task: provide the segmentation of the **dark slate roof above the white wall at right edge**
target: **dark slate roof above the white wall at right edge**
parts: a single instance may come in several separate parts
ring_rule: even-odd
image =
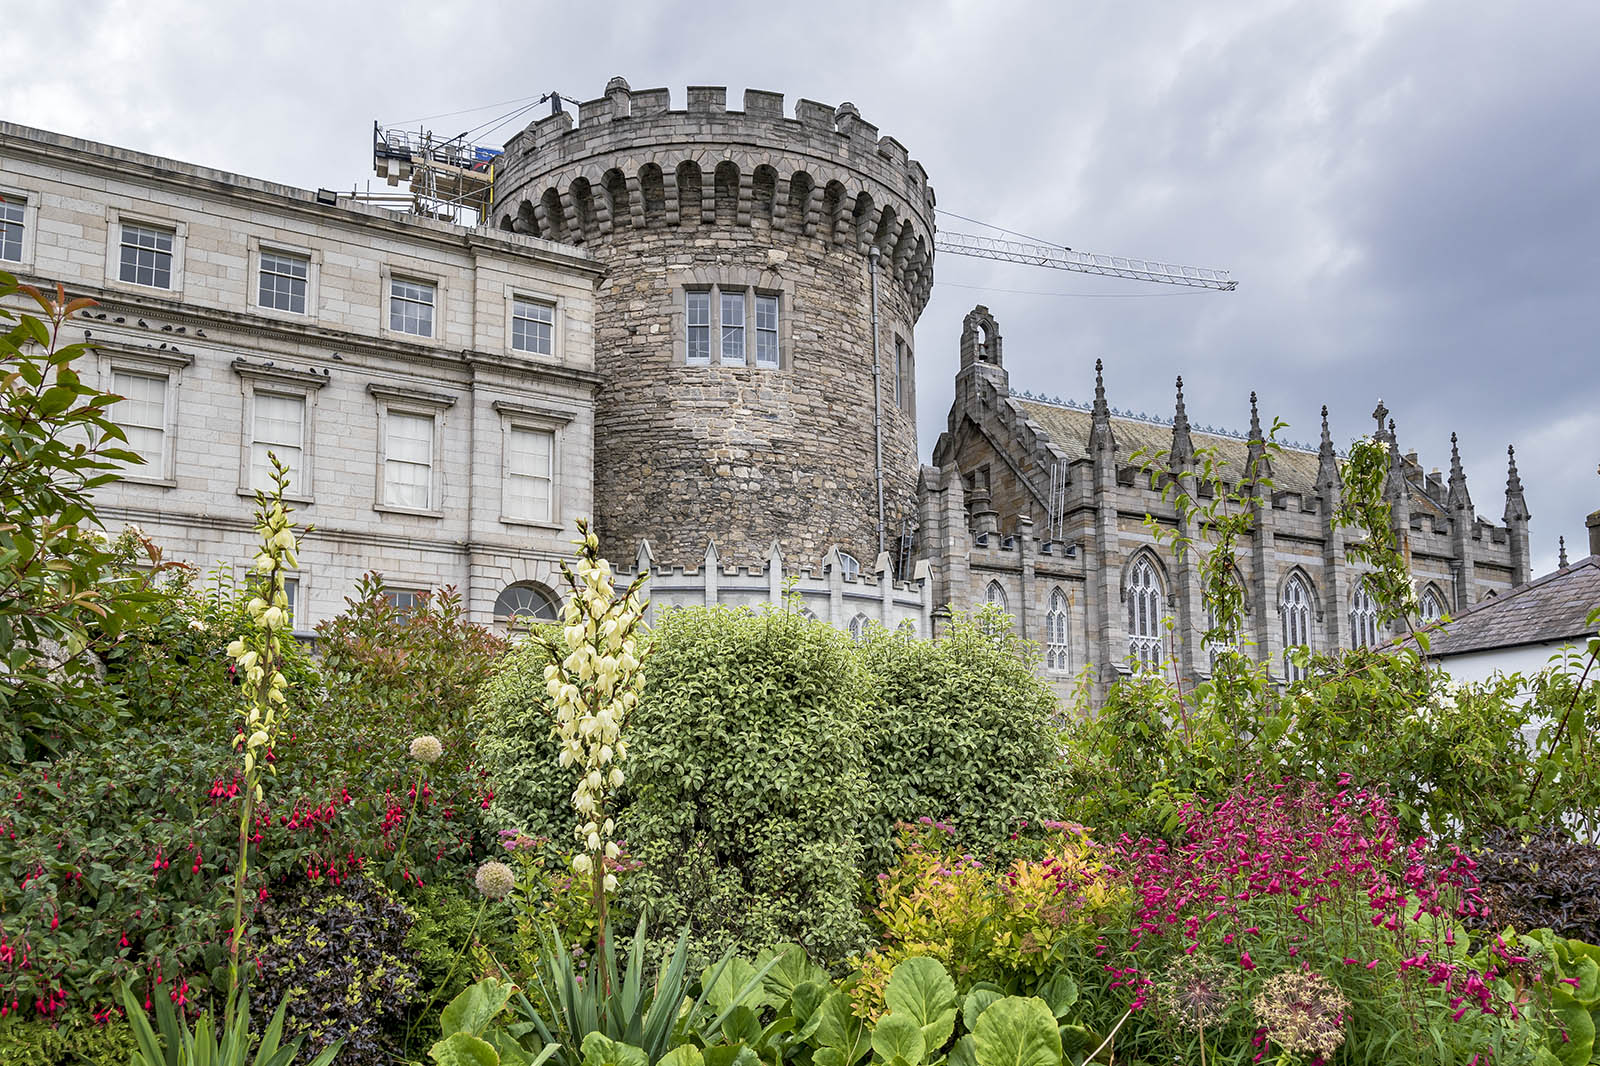
[[[1458,615],[1432,635],[1429,655],[1466,655],[1589,637],[1600,607],[1600,555],[1589,555]]]

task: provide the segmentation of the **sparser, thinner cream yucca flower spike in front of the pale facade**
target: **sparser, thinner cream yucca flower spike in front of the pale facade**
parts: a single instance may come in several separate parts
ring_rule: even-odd
[[[254,775],[258,752],[272,743],[277,725],[278,707],[283,706],[283,691],[290,687],[288,679],[278,669],[282,639],[290,627],[290,600],[283,589],[283,571],[298,570],[299,560],[294,557],[294,530],[290,527],[288,512],[282,499],[272,499],[256,523],[261,535],[261,551],[256,552],[256,571],[267,575],[269,587],[266,595],[251,597],[245,605],[250,615],[253,632],[235,639],[227,645],[229,656],[238,664],[248,701],[243,711],[245,731],[234,741],[234,746],[245,749],[245,776]],[[269,672],[270,671],[270,672]],[[261,784],[256,784],[256,799],[261,799]]]

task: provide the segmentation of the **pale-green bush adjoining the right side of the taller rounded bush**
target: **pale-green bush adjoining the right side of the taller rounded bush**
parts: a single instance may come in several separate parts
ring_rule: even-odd
[[[869,872],[891,856],[899,821],[952,824],[970,850],[1006,840],[1056,797],[1056,695],[1034,645],[995,624],[998,608],[957,611],[939,640],[872,627],[866,733],[875,810],[864,828]]]

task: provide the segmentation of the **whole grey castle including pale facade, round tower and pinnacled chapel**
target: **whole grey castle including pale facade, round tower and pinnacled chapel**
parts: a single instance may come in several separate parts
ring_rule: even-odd
[[[914,330],[933,285],[928,174],[851,104],[613,78],[498,162],[488,224],[402,216],[0,123],[0,269],[62,282],[149,463],[101,498],[179,557],[243,563],[266,451],[306,544],[296,624],[378,568],[469,615],[549,618],[568,530],[650,568],[654,610],[798,597],[861,634],[934,635],[1002,603],[1062,691],[1091,667],[1208,672],[1194,570],[1139,448],[1264,447],[1013,394],[998,323],[966,317],[949,427],[918,466]],[[77,339],[77,338],[74,338]],[[1378,432],[1395,442],[1378,413]],[[1424,613],[1528,579],[1515,463],[1504,525],[1392,448]],[[1373,643],[1331,523],[1339,458],[1288,448],[1240,557],[1256,655]]]

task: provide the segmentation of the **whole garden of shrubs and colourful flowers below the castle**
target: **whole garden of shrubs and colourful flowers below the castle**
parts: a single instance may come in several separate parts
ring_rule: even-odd
[[[104,528],[136,456],[82,304],[0,291],[38,304],[0,341],[6,1066],[1600,1063],[1600,637],[1278,685],[1230,578],[1262,482],[1152,456],[1211,674],[1093,714],[995,608],[646,624],[582,525],[555,624],[371,575],[312,651],[282,491],[238,581]],[[1400,623],[1384,466],[1339,519]]]

